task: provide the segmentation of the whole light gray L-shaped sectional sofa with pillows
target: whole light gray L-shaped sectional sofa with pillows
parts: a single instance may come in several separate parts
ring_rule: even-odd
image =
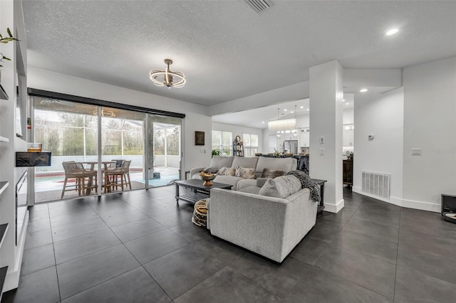
[[[227,240],[259,255],[282,262],[316,223],[318,203],[311,200],[309,188],[301,188],[296,176],[264,179],[264,169],[291,171],[294,158],[214,156],[209,167],[199,171],[242,166],[254,169],[254,179],[217,175],[215,182],[231,184],[232,190],[214,188],[207,200],[207,228]]]

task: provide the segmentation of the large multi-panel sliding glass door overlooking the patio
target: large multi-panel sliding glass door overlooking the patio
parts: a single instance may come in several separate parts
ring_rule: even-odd
[[[36,96],[31,102],[33,141],[52,153],[51,166],[35,167],[35,203],[180,179],[182,118]],[[83,176],[68,174],[75,167]]]

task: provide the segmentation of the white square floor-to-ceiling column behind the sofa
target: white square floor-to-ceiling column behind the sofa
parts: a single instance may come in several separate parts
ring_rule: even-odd
[[[343,208],[342,115],[343,68],[338,61],[310,68],[310,159],[313,179],[327,180],[325,211]]]

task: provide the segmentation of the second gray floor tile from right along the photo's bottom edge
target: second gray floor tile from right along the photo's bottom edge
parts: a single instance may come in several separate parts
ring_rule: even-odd
[[[393,299],[342,279],[326,270],[311,267],[282,302],[393,303]]]

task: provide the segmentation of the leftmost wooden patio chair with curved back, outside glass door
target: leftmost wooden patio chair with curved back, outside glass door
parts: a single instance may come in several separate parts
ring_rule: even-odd
[[[63,182],[61,195],[62,199],[66,191],[78,191],[78,196],[81,196],[81,192],[83,195],[89,195],[92,189],[95,189],[95,193],[98,192],[97,171],[84,169],[82,163],[75,161],[64,161],[62,162],[62,166],[65,171],[65,181]],[[74,188],[71,188],[72,185],[67,185],[68,179],[75,179]],[[93,182],[94,180],[95,182]]]

